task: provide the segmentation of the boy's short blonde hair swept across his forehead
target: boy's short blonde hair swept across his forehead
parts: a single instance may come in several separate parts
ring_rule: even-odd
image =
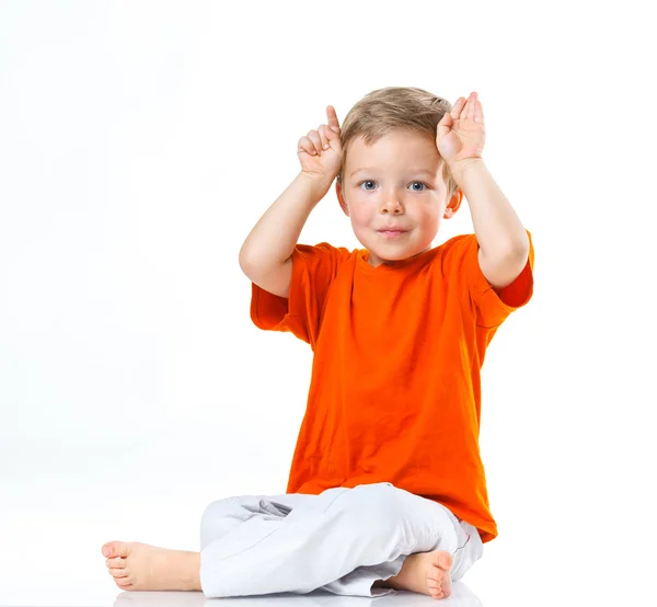
[[[343,149],[337,182],[344,186],[347,148],[362,137],[368,146],[376,144],[392,130],[408,130],[436,140],[438,123],[451,112],[449,101],[415,87],[387,87],[366,94],[349,110],[341,125]],[[442,180],[449,197],[459,188],[447,162],[441,160]]]

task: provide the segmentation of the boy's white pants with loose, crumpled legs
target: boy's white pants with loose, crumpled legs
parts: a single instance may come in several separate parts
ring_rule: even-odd
[[[475,527],[391,483],[320,495],[243,495],[212,502],[200,523],[207,598],[274,593],[380,596],[414,552],[447,550],[457,581],[482,557]]]

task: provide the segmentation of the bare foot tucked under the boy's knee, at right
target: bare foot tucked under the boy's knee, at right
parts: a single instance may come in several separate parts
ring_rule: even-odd
[[[447,550],[416,552],[406,557],[402,570],[395,576],[376,582],[374,586],[447,598],[451,594],[449,572],[452,564],[453,559]]]

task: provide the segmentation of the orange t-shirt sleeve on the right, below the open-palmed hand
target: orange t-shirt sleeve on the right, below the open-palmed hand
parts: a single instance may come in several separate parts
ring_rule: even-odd
[[[486,280],[480,267],[476,234],[457,237],[458,252],[454,253],[459,260],[459,275],[465,295],[475,306],[479,327],[498,327],[512,311],[525,306],[533,295],[534,250],[531,232],[526,231],[529,239],[527,263],[511,284],[497,290]]]

